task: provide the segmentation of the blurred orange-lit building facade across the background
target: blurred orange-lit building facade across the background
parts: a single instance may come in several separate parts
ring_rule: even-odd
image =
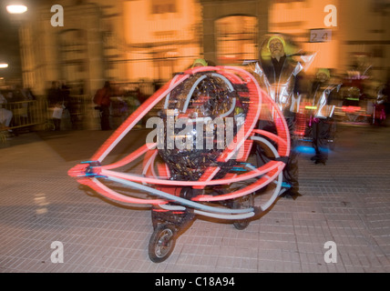
[[[63,26],[52,23],[53,5]],[[364,59],[375,77],[388,76],[387,0],[48,0],[31,10],[20,43],[24,85],[36,94],[53,80],[89,95],[105,80],[164,82],[198,57],[240,65],[259,57],[270,32],[316,52],[312,69],[344,72]],[[317,32],[326,35],[315,41]]]

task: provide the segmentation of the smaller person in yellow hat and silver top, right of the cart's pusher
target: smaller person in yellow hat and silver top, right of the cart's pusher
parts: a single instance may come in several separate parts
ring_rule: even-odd
[[[332,99],[334,89],[340,88],[340,85],[330,84],[331,74],[327,68],[319,68],[315,75],[310,97],[312,98],[313,115],[311,116],[312,126],[312,145],[315,150],[315,156],[311,160],[315,164],[326,164],[328,159],[328,139],[330,137],[331,125],[334,114],[334,105]]]

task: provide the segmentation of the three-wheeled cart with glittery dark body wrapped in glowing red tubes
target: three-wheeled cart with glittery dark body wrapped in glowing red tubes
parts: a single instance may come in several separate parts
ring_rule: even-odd
[[[158,104],[159,115],[149,120],[155,125],[154,137],[105,165],[119,141]],[[277,134],[257,128],[262,111],[272,113]],[[257,145],[274,156],[262,166],[251,162]],[[289,153],[282,113],[253,76],[239,67],[202,66],[162,86],[89,161],[74,166],[68,175],[115,202],[150,205],[154,231],[149,258],[162,262],[180,229],[196,216],[229,220],[243,229],[272,206],[281,193],[283,161]],[[137,159],[142,159],[142,169],[130,173],[126,168]],[[265,188],[271,191],[262,191]],[[257,205],[254,196],[259,193],[264,196]]]

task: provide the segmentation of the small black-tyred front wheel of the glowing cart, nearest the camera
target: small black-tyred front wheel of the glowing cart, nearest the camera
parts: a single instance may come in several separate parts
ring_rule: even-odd
[[[170,224],[156,227],[149,241],[149,258],[154,263],[165,261],[172,253],[176,242],[176,229]]]

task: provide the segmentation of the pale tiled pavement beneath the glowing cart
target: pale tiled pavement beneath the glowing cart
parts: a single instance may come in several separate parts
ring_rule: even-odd
[[[0,272],[389,272],[390,127],[340,128],[326,166],[301,154],[303,196],[278,199],[244,230],[198,218],[159,264],[149,208],[88,196],[67,176],[110,132],[15,136],[0,148]],[[56,241],[63,263],[51,260]],[[336,262],[325,262],[328,241]]]

